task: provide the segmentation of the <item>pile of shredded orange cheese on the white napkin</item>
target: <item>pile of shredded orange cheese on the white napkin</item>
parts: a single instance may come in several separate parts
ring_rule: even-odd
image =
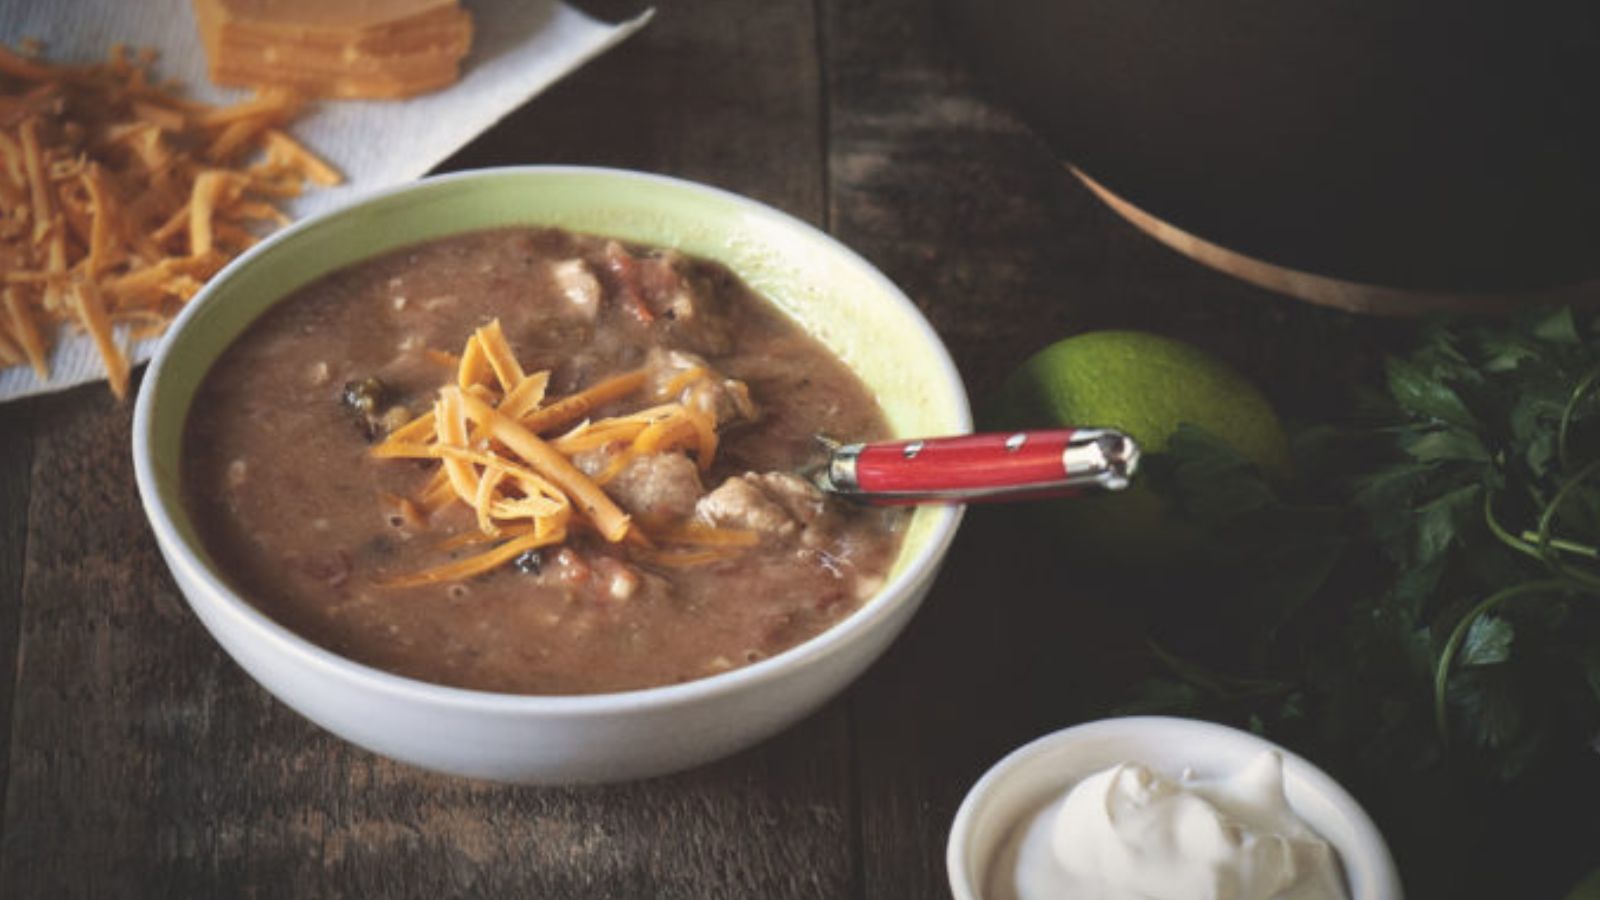
[[[294,94],[194,102],[150,83],[150,62],[120,45],[86,66],[0,46],[0,367],[48,378],[51,340],[70,325],[126,396],[115,328],[160,335],[261,226],[288,221],[272,200],[341,181],[282,131]]]

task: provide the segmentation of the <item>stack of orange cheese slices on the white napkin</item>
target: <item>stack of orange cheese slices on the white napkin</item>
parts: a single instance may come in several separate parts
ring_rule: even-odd
[[[218,85],[390,99],[456,82],[472,16],[456,0],[194,0]]]

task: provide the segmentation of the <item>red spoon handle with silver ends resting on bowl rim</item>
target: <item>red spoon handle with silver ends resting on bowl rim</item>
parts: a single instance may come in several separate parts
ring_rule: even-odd
[[[818,487],[878,506],[1122,490],[1139,468],[1139,445],[1106,428],[824,444],[829,458],[814,474]]]

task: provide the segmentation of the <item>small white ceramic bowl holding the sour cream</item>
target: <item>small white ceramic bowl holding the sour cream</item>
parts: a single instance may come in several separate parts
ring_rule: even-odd
[[[1350,900],[1402,900],[1389,846],[1338,781],[1275,743],[1195,719],[1130,716],[1045,735],[1013,751],[973,785],[950,826],[946,866],[955,900],[986,900],[989,866],[1018,826],[1078,780],[1118,762],[1144,762],[1176,777],[1238,772],[1262,751],[1283,756],[1290,807],[1339,852]]]

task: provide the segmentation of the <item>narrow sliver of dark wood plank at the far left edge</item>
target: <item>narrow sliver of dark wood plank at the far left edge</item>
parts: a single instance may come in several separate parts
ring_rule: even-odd
[[[16,695],[18,618],[22,610],[22,554],[27,548],[37,407],[37,400],[0,407],[0,809],[5,809],[11,770],[11,701]],[[0,820],[0,834],[3,828]]]

